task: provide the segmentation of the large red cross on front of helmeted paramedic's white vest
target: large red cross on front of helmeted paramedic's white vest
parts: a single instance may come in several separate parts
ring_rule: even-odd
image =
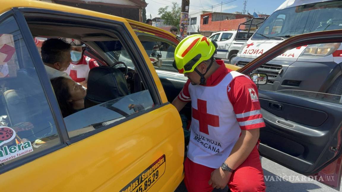
[[[197,108],[192,108],[192,116],[199,122],[199,131],[209,135],[208,125],[219,127],[219,116],[207,113],[207,101],[205,100],[197,99]]]

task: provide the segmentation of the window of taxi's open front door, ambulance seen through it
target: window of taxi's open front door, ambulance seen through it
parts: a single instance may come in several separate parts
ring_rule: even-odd
[[[260,90],[342,104],[342,76],[334,72],[339,68],[341,47],[341,43],[319,43],[289,50],[259,67],[256,72],[267,74],[268,79],[254,82]],[[281,65],[279,60],[287,61]]]

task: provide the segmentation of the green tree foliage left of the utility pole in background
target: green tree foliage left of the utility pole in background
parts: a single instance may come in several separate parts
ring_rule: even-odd
[[[169,6],[158,9],[158,15],[161,15],[160,19],[164,19],[165,25],[171,25],[177,27],[179,30],[179,24],[181,20],[181,7],[177,3],[172,3],[171,11],[168,11]]]

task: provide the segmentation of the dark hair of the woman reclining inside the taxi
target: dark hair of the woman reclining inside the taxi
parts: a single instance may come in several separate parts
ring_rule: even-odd
[[[56,77],[51,79],[52,88],[55,92],[58,104],[60,105],[63,118],[75,112],[73,104],[68,101],[71,95],[69,93],[69,88],[66,80],[67,78],[65,77]]]

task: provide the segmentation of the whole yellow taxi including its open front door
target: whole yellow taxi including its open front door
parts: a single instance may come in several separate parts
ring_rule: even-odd
[[[187,104],[179,114],[170,104],[187,81],[172,67],[179,39],[146,24],[63,5],[32,0],[1,5],[1,188],[174,191],[183,179],[192,110]],[[100,67],[89,72],[83,110],[62,115],[35,37],[71,38],[89,48],[85,54]],[[276,91],[265,86],[272,83],[267,62],[273,58],[341,39],[342,30],[299,35],[243,68],[226,65],[263,77],[256,82],[266,124],[260,130],[260,154],[335,189],[342,175],[342,91],[308,91],[302,84],[309,81]],[[330,56],[342,58],[341,51]],[[325,58],[312,60],[319,59]],[[296,76],[312,71],[301,67]],[[269,70],[265,74],[260,68]],[[310,77],[317,79],[320,67],[314,71]]]

